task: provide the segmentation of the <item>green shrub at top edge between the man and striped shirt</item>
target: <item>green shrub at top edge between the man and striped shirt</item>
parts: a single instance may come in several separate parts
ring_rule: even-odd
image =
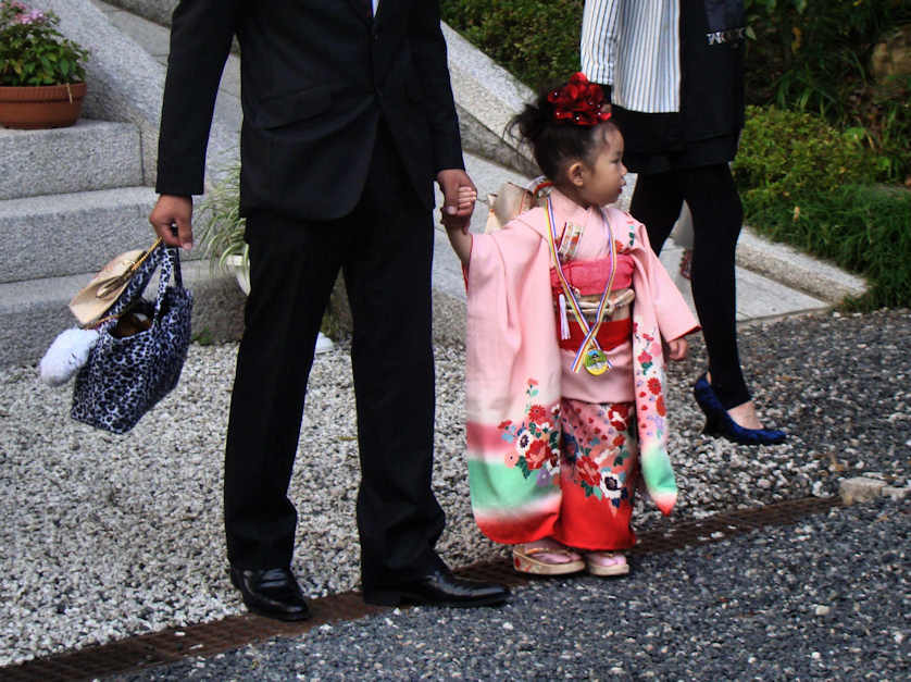
[[[579,70],[584,0],[441,0],[453,28],[534,90]]]

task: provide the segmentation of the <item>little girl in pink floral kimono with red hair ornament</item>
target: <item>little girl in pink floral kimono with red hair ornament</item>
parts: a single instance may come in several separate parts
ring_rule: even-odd
[[[578,73],[515,117],[552,183],[545,206],[449,231],[467,284],[472,507],[527,573],[627,573],[640,471],[661,511],[676,501],[662,340],[681,360],[699,327],[645,227],[604,208],[626,169],[602,97]]]

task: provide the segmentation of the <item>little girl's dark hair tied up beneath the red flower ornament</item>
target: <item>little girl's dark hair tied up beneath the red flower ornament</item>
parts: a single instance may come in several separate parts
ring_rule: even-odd
[[[541,173],[559,185],[563,181],[563,169],[577,160],[594,162],[607,129],[617,128],[612,121],[595,125],[558,121],[554,104],[548,100],[548,96],[557,89],[559,86],[542,90],[533,103],[525,104],[522,112],[512,117],[507,131],[514,139],[531,146]]]

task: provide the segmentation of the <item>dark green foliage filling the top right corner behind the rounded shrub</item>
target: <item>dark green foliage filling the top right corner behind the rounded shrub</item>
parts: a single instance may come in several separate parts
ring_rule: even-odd
[[[747,100],[863,131],[877,179],[911,179],[911,78],[876,82],[876,44],[911,23],[908,0],[746,0]]]

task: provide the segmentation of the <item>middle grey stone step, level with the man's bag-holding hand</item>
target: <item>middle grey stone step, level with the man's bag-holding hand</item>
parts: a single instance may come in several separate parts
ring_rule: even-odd
[[[0,283],[93,272],[152,243],[151,187],[0,201]]]

